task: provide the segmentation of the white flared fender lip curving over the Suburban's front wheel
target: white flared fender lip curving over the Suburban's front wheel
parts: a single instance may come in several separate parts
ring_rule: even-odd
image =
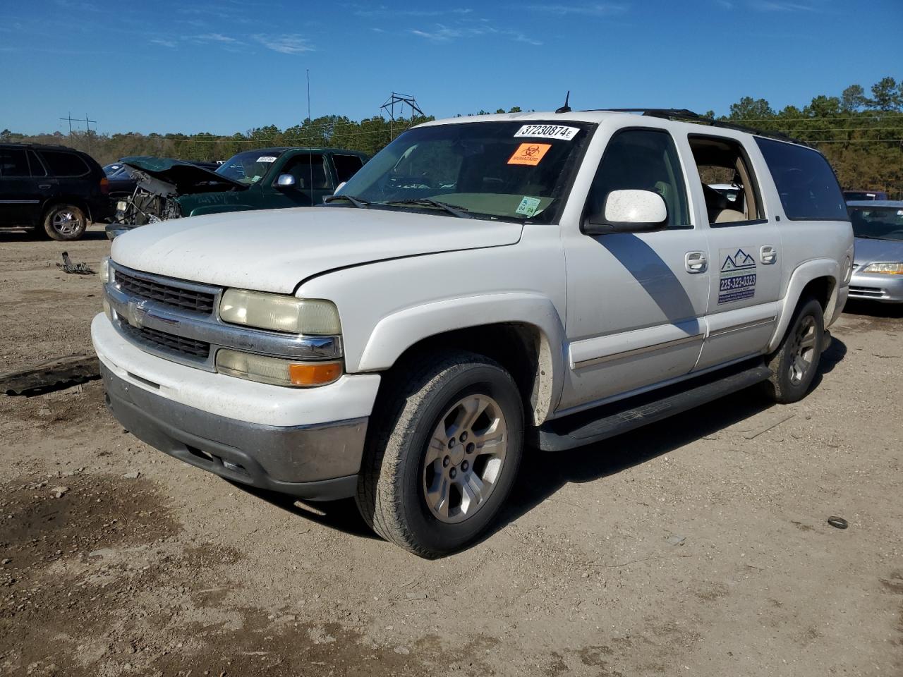
[[[454,329],[518,322],[539,330],[539,376],[535,387],[537,422],[554,411],[564,383],[564,327],[554,303],[530,293],[497,293],[434,301],[379,320],[354,371],[381,371],[418,341]]]

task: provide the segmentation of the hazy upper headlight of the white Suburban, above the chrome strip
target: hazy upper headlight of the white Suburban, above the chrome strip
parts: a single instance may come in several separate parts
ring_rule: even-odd
[[[296,299],[285,294],[227,289],[219,301],[224,322],[293,334],[337,336],[341,333],[339,311],[330,301]]]

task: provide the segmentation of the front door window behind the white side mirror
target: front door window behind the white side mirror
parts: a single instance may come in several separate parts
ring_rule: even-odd
[[[654,190],[665,199],[668,227],[688,227],[684,172],[671,134],[626,129],[611,137],[590,189],[590,209],[601,213],[612,190]]]

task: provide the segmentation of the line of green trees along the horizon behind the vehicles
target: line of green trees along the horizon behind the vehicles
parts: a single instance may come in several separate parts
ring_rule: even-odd
[[[519,112],[519,107],[497,113]],[[484,114],[480,110],[475,115]],[[706,116],[714,117],[709,111]],[[231,135],[209,134],[98,134],[94,130],[70,135],[0,132],[2,141],[65,144],[93,155],[98,162],[114,162],[129,155],[162,155],[182,160],[225,160],[243,150],[296,145],[347,148],[373,155],[407,127],[435,119],[414,116],[390,120],[383,116],[359,121],[347,116],[306,118],[280,129],[265,125]],[[880,79],[869,93],[861,85],[845,88],[839,96],[820,95],[803,107],[775,110],[764,98],[742,97],[731,105],[724,122],[787,134],[818,148],[832,163],[843,188],[885,190],[903,199],[903,82]]]

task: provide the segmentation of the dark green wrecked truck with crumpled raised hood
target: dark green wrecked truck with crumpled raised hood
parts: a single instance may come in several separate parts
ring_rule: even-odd
[[[171,218],[318,205],[367,160],[335,148],[261,148],[237,153],[211,172],[182,160],[126,157],[122,163],[137,184],[116,202],[107,237]]]

